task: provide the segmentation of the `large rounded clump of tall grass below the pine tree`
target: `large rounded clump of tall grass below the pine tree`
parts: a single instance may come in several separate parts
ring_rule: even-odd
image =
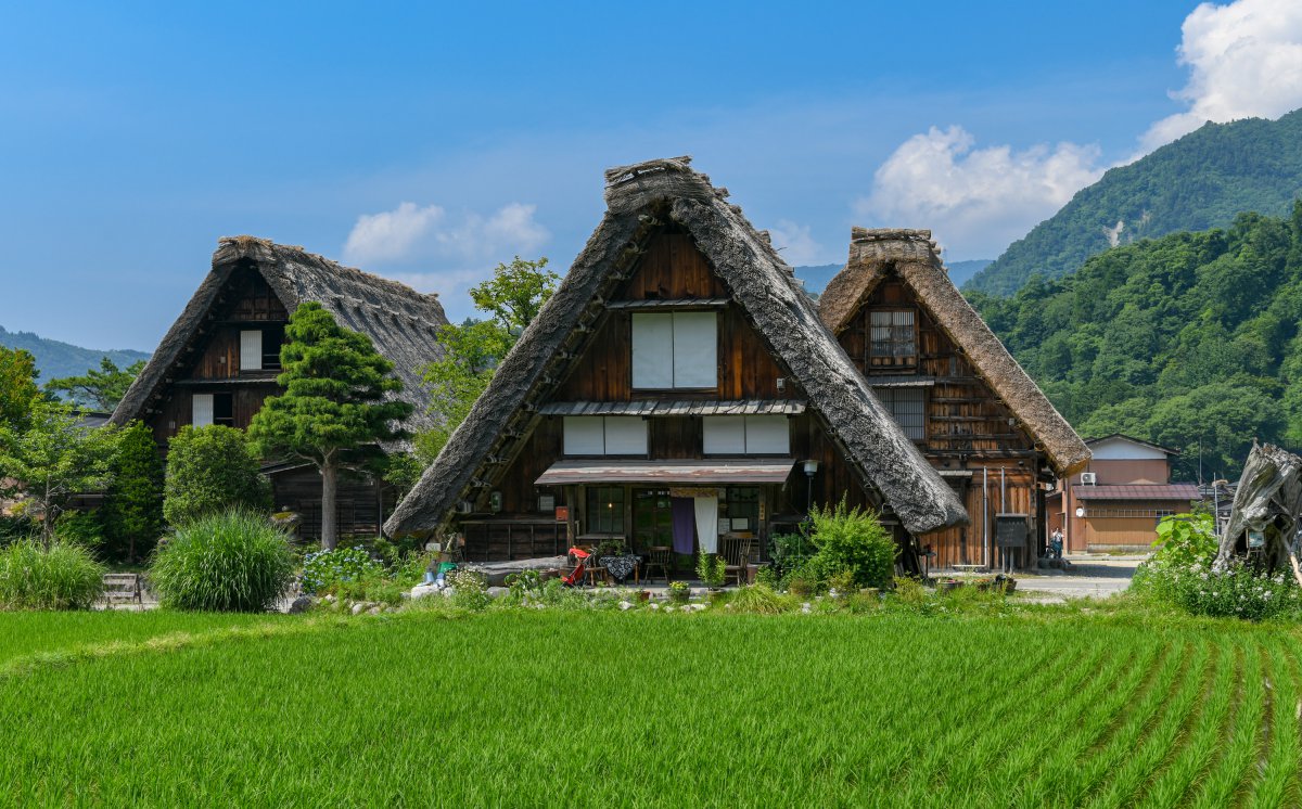
[[[163,606],[249,613],[275,603],[293,571],[288,536],[262,515],[234,510],[177,529],[155,551],[150,580]]]

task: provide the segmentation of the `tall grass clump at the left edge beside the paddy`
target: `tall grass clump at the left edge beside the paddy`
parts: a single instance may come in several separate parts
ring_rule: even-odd
[[[0,606],[5,609],[89,609],[100,593],[104,566],[85,548],[20,540],[0,550]]]

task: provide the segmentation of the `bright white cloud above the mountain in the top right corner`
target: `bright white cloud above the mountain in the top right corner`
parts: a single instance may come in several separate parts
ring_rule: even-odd
[[[1181,26],[1180,64],[1189,83],[1172,94],[1189,109],[1154,124],[1144,152],[1207,121],[1279,116],[1302,107],[1302,3],[1204,3]]]

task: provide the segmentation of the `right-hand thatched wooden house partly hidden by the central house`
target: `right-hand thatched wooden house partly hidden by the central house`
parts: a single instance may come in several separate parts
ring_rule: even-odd
[[[1047,537],[1046,496],[1090,450],[954,287],[931,233],[855,228],[819,308],[971,516],[928,537],[934,563],[997,567],[1006,554],[1032,566]]]

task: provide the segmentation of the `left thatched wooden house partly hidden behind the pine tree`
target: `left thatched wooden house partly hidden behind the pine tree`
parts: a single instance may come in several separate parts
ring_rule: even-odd
[[[436,334],[447,316],[435,295],[342,267],[298,247],[253,237],[224,238],[212,271],[168,330],[112,415],[146,423],[165,453],[182,427],[245,429],[263,401],[280,393],[280,347],[299,303],[320,303],[345,328],[371,338],[395,363],[411,428],[428,420],[421,367],[441,356]],[[320,532],[320,475],[312,466],[268,459],[275,507],[301,515],[299,533]],[[379,480],[345,473],[339,490],[341,535],[379,533],[395,506]]]

